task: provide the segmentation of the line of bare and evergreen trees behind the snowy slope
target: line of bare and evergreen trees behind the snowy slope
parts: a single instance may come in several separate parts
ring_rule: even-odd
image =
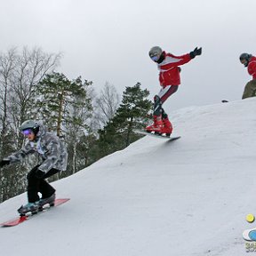
[[[148,124],[152,108],[149,92],[140,83],[126,87],[122,100],[109,83],[97,95],[92,81],[81,76],[68,79],[56,72],[60,59],[60,53],[40,48],[0,53],[0,159],[24,145],[20,124],[43,120],[68,148],[68,170],[52,180],[74,174],[138,140],[140,135],[132,131]],[[26,190],[26,173],[38,161],[29,156],[0,170],[0,202]]]

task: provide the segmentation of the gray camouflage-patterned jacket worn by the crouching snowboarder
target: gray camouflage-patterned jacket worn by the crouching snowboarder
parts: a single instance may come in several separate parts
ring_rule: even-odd
[[[28,141],[18,152],[5,157],[4,160],[10,160],[10,164],[12,164],[20,162],[29,154],[35,153],[43,159],[43,163],[38,167],[40,171],[47,173],[52,168],[66,171],[68,152],[64,141],[60,141],[60,138],[52,132],[46,132],[44,125],[39,126],[36,141]]]

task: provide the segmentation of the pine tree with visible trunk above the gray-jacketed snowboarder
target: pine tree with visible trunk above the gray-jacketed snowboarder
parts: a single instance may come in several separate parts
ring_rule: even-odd
[[[72,114],[75,108],[84,105],[86,85],[88,82],[83,83],[81,77],[70,81],[63,74],[55,72],[46,75],[39,84],[36,93],[36,112],[47,120],[51,130],[56,131],[58,136],[62,135],[64,124],[79,122]]]

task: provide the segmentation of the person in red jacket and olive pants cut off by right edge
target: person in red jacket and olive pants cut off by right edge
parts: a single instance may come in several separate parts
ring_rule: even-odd
[[[240,62],[247,68],[249,75],[252,76],[252,80],[249,81],[244,87],[244,93],[242,99],[256,96],[256,57],[249,53],[242,53],[240,55]]]

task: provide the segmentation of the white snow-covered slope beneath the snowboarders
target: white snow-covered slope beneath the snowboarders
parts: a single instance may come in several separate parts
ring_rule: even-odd
[[[256,214],[256,98],[172,112],[180,140],[144,137],[55,182],[71,197],[0,228],[1,255],[248,255]],[[26,194],[0,204],[12,219]]]

